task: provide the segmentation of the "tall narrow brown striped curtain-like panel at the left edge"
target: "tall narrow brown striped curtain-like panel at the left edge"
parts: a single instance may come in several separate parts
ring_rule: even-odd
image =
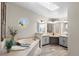
[[[4,38],[6,38],[6,3],[5,2],[1,2],[1,41],[4,40]]]

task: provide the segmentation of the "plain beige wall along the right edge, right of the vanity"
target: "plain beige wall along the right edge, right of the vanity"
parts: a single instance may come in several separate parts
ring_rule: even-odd
[[[79,3],[71,3],[68,9],[69,55],[79,56]]]

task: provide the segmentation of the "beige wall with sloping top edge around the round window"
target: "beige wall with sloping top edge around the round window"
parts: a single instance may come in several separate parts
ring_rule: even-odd
[[[18,24],[21,18],[29,20],[28,26],[24,29],[21,29]],[[9,33],[8,26],[15,26],[19,30],[17,37],[29,37],[36,32],[36,22],[41,19],[45,19],[45,17],[39,16],[18,5],[7,3],[7,34]]]

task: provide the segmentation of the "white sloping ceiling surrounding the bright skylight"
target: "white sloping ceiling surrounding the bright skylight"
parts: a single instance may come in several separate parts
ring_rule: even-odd
[[[53,5],[53,2],[50,3]],[[39,2],[14,2],[14,4],[49,18],[67,17],[68,3],[66,2],[54,2],[59,8],[53,11],[40,5]]]

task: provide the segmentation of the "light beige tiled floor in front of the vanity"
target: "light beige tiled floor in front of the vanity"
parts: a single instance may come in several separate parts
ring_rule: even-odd
[[[40,56],[67,56],[67,48],[59,45],[46,45],[42,47]]]

